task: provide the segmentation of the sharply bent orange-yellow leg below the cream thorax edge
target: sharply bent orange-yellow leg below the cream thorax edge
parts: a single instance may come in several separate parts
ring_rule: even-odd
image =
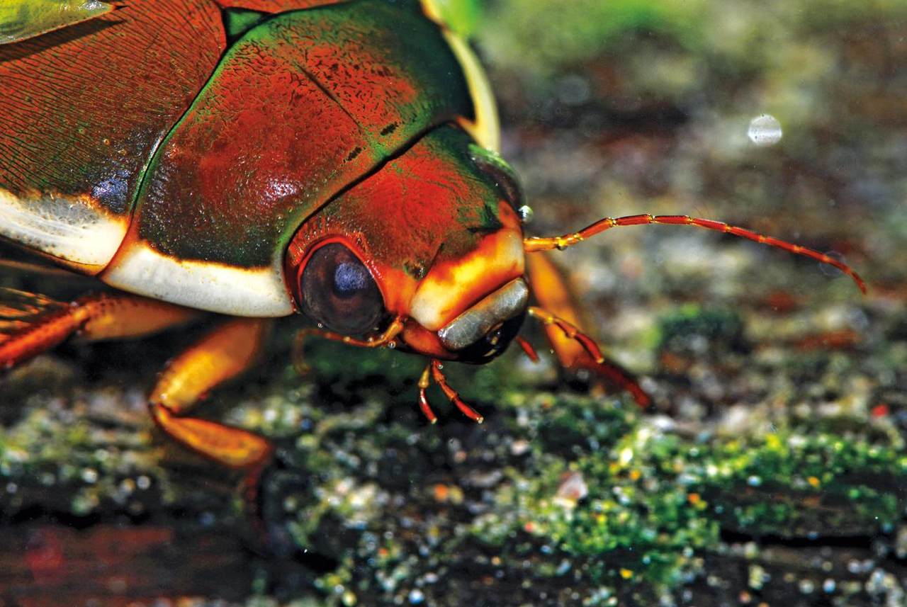
[[[268,440],[248,430],[180,416],[212,388],[252,366],[269,326],[254,318],[221,324],[170,362],[148,399],[152,419],[168,436],[223,466],[246,470],[247,496],[253,504],[258,478],[273,453]]]

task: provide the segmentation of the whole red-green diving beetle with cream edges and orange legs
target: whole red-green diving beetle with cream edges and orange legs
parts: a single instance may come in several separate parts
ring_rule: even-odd
[[[647,400],[576,328],[539,251],[615,226],[699,226],[834,265],[864,289],[828,255],[696,217],[524,237],[489,84],[434,0],[12,0],[4,11],[0,236],[117,291],[6,306],[31,312],[0,338],[0,365],[73,333],[135,337],[222,314],[148,402],[166,434],[253,483],[268,441],[187,413],[249,368],[269,318],[304,313],[318,328],[302,338],[421,354],[425,416],[434,422],[434,381],[481,421],[441,361],[491,361],[513,341],[534,356],[517,336],[527,315],[562,364]]]

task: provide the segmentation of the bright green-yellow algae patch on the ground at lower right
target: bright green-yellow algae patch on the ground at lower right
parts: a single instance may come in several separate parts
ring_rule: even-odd
[[[565,401],[536,407],[567,409],[577,399]],[[584,405],[602,409],[594,400]],[[613,423],[622,410],[612,405],[603,417]],[[531,474],[511,468],[494,512],[480,516],[472,533],[499,547],[518,533],[556,545],[552,575],[570,557],[590,584],[664,589],[701,572],[703,556],[722,546],[719,529],[782,537],[878,534],[891,531],[907,506],[899,489],[907,482],[900,440],[789,430],[691,439],[631,409],[620,417],[618,438],[595,448],[580,441],[578,458],[545,454]],[[564,489],[570,479],[583,487],[579,495]]]

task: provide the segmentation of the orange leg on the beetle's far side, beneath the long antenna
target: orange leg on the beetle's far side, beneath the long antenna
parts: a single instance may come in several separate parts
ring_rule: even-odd
[[[592,338],[575,326],[581,322],[580,306],[571,298],[566,278],[549,255],[532,255],[526,262],[532,294],[541,304],[541,307],[530,308],[529,313],[544,325],[548,341],[561,365],[566,369],[599,373],[621,390],[629,392],[640,407],[648,407],[651,398],[632,374],[608,360]]]

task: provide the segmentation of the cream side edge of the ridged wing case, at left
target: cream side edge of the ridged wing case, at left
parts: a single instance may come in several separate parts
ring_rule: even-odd
[[[0,235],[63,261],[101,269],[120,247],[127,227],[125,218],[88,197],[18,198],[0,188]]]

